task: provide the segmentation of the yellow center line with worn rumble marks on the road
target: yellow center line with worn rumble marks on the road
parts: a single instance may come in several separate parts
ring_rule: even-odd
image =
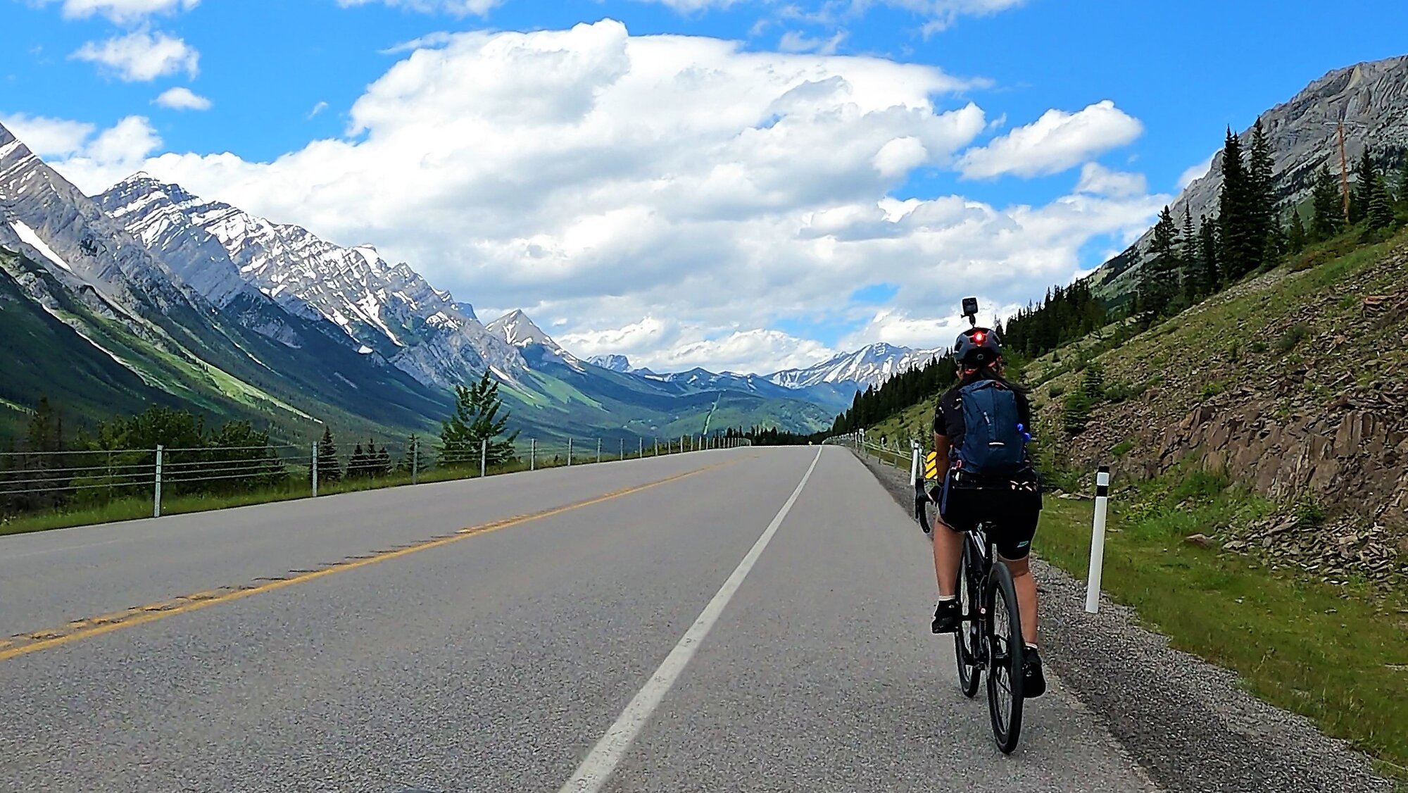
[[[103,634],[110,634],[113,631],[120,631],[122,628],[145,625],[146,623],[155,623],[156,620],[165,620],[166,617],[175,617],[176,614],[199,611],[201,608],[215,606],[217,603],[230,603],[231,600],[239,600],[242,597],[249,597],[252,594],[263,594],[266,592],[275,592],[289,586],[308,583],[311,580],[317,580],[324,576],[331,576],[334,573],[344,573],[346,570],[366,568],[377,562],[386,562],[389,559],[408,556],[411,554],[418,554],[421,551],[429,551],[431,548],[439,548],[442,545],[449,545],[452,542],[459,542],[460,539],[479,537],[480,534],[489,534],[491,531],[498,531],[513,525],[522,525],[525,523],[531,523],[535,520],[560,516],[563,513],[570,513],[573,510],[580,510],[583,507],[590,507],[593,504],[600,504],[603,501],[610,501],[612,499],[620,499],[622,496],[629,496],[632,493],[649,490],[650,487],[659,487],[660,485],[679,482],[680,479],[694,476],[697,473],[704,473],[705,470],[712,470],[715,468],[734,465],[735,462],[739,461],[721,462],[698,468],[694,470],[687,470],[684,473],[676,473],[674,476],[666,476],[665,479],[658,479],[655,482],[648,482],[645,485],[636,485],[634,487],[612,490],[611,493],[605,493],[594,499],[576,501],[562,507],[552,507],[549,510],[541,510],[536,513],[528,513],[511,518],[497,520],[493,523],[466,527],[453,534],[434,537],[424,542],[403,545],[400,548],[393,548],[390,551],[380,551],[376,554],[369,554],[366,556],[349,558],[348,561],[337,562],[325,568],[320,568],[317,570],[298,572],[289,577],[269,580],[259,585],[210,589],[204,592],[197,592],[194,594],[183,594],[180,597],[173,597],[170,600],[165,600],[161,603],[148,603],[146,606],[137,606],[125,611],[115,611],[111,614],[104,614],[101,617],[73,620],[72,623],[68,623],[66,625],[54,630],[20,634],[8,639],[0,639],[0,661],[8,661],[11,658],[28,655],[31,652],[39,652],[41,649],[62,647],[65,644],[75,642],[79,639],[100,637]]]

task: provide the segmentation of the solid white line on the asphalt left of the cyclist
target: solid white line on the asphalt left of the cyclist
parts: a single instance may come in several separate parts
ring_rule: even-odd
[[[801,482],[797,483],[797,489],[783,504],[783,508],[777,511],[773,517],[773,523],[767,524],[763,530],[762,537],[758,542],[743,556],[743,561],[738,563],[734,573],[728,576],[724,586],[718,589],[714,599],[708,601],[704,611],[700,613],[690,630],[684,631],[684,637],[680,638],[670,655],[665,658],[660,668],[650,675],[650,679],[645,683],[645,687],[635,694],[631,704],[625,706],[621,716],[617,717],[615,723],[607,730],[605,735],[597,741],[597,745],[591,748],[591,754],[587,755],[577,770],[573,772],[572,779],[566,782],[559,789],[559,793],[597,793],[611,778],[611,772],[625,756],[627,749],[631,748],[631,742],[635,741],[641,730],[645,728],[645,723],[649,721],[650,714],[659,707],[660,700],[669,693],[670,686],[679,679],[680,673],[684,672],[684,666],[689,665],[690,659],[694,658],[694,651],[698,649],[704,637],[708,635],[714,623],[718,621],[719,614],[724,613],[724,607],[728,601],[734,599],[734,593],[748,577],[748,573],[753,569],[758,558],[763,555],[763,549],[777,534],[777,527],[783,524],[787,513],[791,511],[797,497],[801,496],[803,487],[807,486],[807,480],[811,479],[811,472],[817,469],[817,462],[821,459],[822,448],[817,449],[817,456],[811,459],[811,466],[807,468],[807,473],[803,475]]]

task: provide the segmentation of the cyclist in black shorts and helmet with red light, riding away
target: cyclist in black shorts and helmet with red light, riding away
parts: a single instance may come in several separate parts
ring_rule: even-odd
[[[964,454],[987,455],[983,448],[969,451],[973,445],[1001,448],[1008,444],[994,442],[994,434],[1002,435],[1017,447],[1025,445],[1024,430],[1032,425],[1031,403],[1025,389],[1002,377],[1002,348],[997,334],[987,328],[970,328],[959,335],[953,345],[957,362],[959,382],[939,397],[934,413],[934,449],[941,461],[948,461],[942,490],[935,489],[939,501],[939,523],[934,531],[934,570],[939,580],[939,604],[934,610],[934,632],[950,634],[959,628],[960,607],[957,600],[959,563],[963,554],[963,531],[973,530],[980,521],[987,524],[988,537],[997,545],[998,559],[1012,572],[1017,589],[1017,603],[1022,614],[1022,639],[1026,642],[1025,668],[1022,669],[1026,697],[1039,697],[1046,692],[1046,678],[1042,673],[1041,656],[1036,654],[1036,582],[1032,579],[1028,554],[1032,537],[1036,534],[1036,520],[1042,508],[1041,482],[1025,448],[1001,465],[988,466],[997,473],[972,475],[973,465],[964,470]],[[970,386],[995,389],[979,396]],[[1010,416],[1015,408],[1012,427],[993,427],[986,423],[969,438],[963,418],[963,396],[972,399],[993,399],[993,416]],[[1015,404],[1014,404],[1015,403]],[[981,414],[984,418],[988,413]],[[979,438],[977,435],[981,435]],[[964,441],[972,441],[969,447]],[[1005,452],[1004,452],[1005,454]],[[1001,462],[1001,461],[998,461]]]

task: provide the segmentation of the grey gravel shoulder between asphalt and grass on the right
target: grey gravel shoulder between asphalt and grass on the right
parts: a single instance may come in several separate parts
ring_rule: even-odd
[[[912,513],[908,472],[865,462]],[[1083,582],[1041,559],[1033,570],[1050,670],[1169,793],[1394,790],[1370,758],[1250,696],[1235,673],[1170,648],[1133,610],[1102,600],[1100,614],[1086,614]]]

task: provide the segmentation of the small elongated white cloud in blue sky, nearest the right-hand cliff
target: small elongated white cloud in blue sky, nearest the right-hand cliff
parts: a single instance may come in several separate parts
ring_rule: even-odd
[[[1076,113],[1048,110],[1036,121],[963,152],[959,169],[969,179],[1060,173],[1128,145],[1142,132],[1143,124],[1110,100]]]

